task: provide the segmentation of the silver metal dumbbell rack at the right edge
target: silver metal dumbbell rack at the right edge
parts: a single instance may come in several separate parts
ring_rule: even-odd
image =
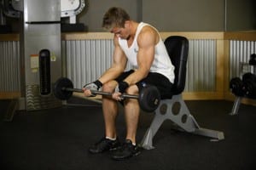
[[[242,75],[246,72],[252,72],[254,75],[256,75],[256,65],[249,65],[247,63],[241,63],[241,71],[240,71],[240,77],[242,77]],[[238,110],[240,108],[241,105],[241,99],[242,98],[247,98],[246,96],[236,96],[236,99],[234,101],[234,105],[232,107],[232,111],[230,112],[231,116],[237,115],[238,114]]]

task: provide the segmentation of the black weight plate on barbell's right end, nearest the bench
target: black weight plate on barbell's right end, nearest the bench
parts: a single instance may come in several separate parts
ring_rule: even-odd
[[[146,86],[139,94],[139,105],[143,111],[153,112],[160,105],[160,92],[154,86]]]

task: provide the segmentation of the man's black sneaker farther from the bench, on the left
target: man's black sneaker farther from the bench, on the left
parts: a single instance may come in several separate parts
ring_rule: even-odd
[[[108,150],[116,150],[119,145],[119,139],[111,140],[104,137],[96,144],[91,145],[89,152],[92,154],[98,154]]]

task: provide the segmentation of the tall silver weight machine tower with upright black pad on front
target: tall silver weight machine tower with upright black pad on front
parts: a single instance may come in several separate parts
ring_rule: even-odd
[[[19,110],[60,107],[52,91],[62,77],[61,1],[24,0],[22,9]]]

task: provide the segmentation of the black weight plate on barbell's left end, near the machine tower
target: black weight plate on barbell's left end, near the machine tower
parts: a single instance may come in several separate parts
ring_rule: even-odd
[[[73,88],[73,82],[65,77],[59,78],[54,85],[53,94],[55,95],[55,97],[61,100],[67,100],[71,98],[73,92],[66,91],[63,88]]]

